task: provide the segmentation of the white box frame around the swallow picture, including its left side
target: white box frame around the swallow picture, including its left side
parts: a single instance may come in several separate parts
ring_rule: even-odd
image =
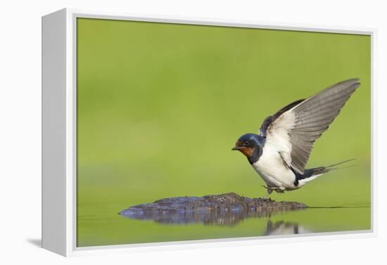
[[[372,204],[371,229],[318,233],[312,235],[271,235],[253,238],[227,238],[217,240],[190,240],[167,243],[110,245],[101,247],[76,246],[76,20],[101,18],[146,22],[177,22],[194,25],[219,25],[224,27],[251,27],[273,30],[302,30],[366,34],[372,39]],[[104,252],[132,252],[164,250],[170,247],[208,247],[211,245],[265,244],[273,240],[299,241],[338,238],[357,238],[376,235],[374,175],[374,110],[376,91],[374,84],[374,39],[376,30],[370,28],[324,27],[290,23],[222,20],[219,18],[179,18],[165,15],[134,16],[121,13],[104,13],[65,8],[42,18],[42,247],[63,256]],[[139,248],[140,247],[140,248]]]

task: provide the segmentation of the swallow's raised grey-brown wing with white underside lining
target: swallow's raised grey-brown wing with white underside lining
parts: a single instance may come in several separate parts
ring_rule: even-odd
[[[260,127],[265,145],[277,149],[288,167],[303,174],[316,139],[328,129],[359,86],[359,79],[348,79],[281,108]]]

